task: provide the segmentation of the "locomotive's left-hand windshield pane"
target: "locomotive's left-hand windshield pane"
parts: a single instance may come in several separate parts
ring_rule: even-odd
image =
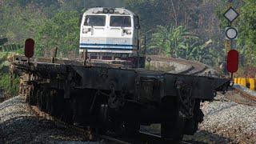
[[[105,15],[86,15],[85,26],[105,26]]]

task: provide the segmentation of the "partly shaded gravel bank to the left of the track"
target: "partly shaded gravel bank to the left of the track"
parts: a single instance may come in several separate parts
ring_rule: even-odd
[[[38,118],[18,96],[0,103],[0,143],[95,143],[85,135]]]

